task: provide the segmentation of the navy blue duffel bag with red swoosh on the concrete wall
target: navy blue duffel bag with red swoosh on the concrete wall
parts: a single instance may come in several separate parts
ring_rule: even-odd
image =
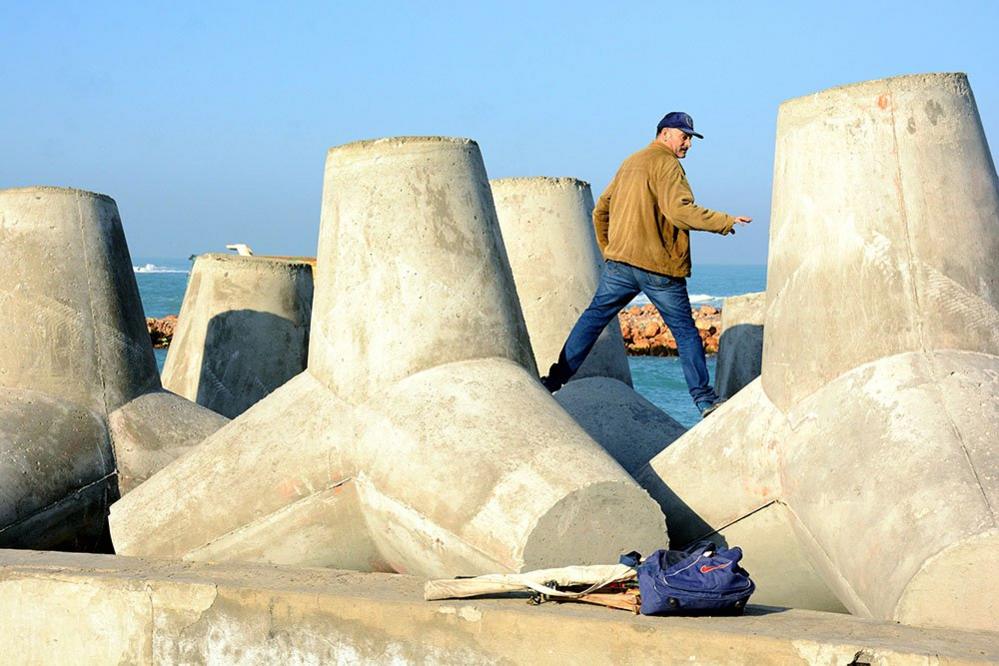
[[[621,562],[635,566],[638,559],[626,555]],[[741,559],[741,548],[707,541],[657,550],[636,566],[642,615],[741,615],[756,589]]]

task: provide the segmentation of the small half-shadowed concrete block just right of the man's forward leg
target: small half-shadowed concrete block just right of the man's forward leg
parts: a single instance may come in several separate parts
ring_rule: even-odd
[[[715,391],[723,400],[728,400],[760,376],[766,308],[764,291],[725,299],[715,370]]]

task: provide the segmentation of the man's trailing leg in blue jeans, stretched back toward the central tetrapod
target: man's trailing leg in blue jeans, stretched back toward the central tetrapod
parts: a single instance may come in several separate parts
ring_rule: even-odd
[[[596,344],[600,333],[610,320],[617,316],[621,308],[638,295],[638,292],[639,285],[631,273],[630,266],[616,261],[604,263],[593,300],[572,327],[569,337],[562,345],[558,361],[548,370],[548,374],[541,378],[545,388],[554,393],[576,374]]]

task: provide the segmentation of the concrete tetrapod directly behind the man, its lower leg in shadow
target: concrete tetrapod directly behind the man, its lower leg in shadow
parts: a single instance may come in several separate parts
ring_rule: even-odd
[[[590,185],[575,178],[490,181],[538,369],[558,360],[600,280]],[[631,387],[617,319],[555,400],[629,474],[686,428]]]

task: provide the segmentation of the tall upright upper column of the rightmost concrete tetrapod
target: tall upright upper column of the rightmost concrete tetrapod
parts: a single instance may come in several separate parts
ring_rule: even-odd
[[[771,399],[892,354],[999,354],[999,194],[967,78],[835,88],[777,122],[767,326],[810,334],[766,336]]]

